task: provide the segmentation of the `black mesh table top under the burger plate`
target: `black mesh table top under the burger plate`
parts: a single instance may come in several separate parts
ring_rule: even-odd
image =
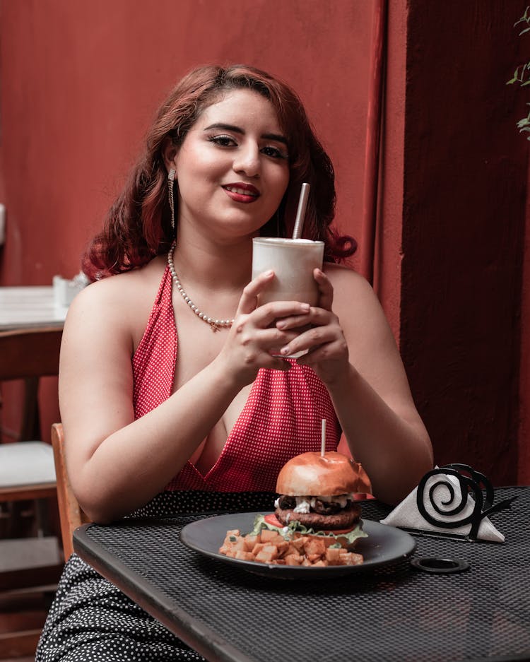
[[[204,515],[88,524],[74,549],[209,660],[237,662],[530,659],[530,487],[491,519],[505,543],[415,536],[418,557],[469,569],[430,574],[410,560],[332,579],[271,579],[204,557],[179,540]],[[363,502],[363,519],[389,509]]]

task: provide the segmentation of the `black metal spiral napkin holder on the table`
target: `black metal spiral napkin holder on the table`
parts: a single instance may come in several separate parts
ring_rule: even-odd
[[[428,480],[432,476],[440,476],[440,480],[431,482],[428,494],[425,495]],[[457,478],[460,488],[460,494],[457,494],[454,483],[449,480],[449,476]],[[435,501],[435,492],[444,486],[449,492],[449,498],[441,502],[444,509],[441,509],[439,504]],[[473,498],[470,499],[470,496]],[[435,516],[427,512],[425,508],[425,499],[428,499],[432,509],[440,515],[459,515],[468,501],[473,502],[473,509],[469,515],[463,516],[461,519],[453,519],[451,521],[437,519]],[[481,521],[493,513],[499,512],[510,508],[512,502],[517,497],[505,499],[497,504],[493,504],[495,500],[495,490],[486,476],[480,471],[475,471],[467,464],[446,464],[442,467],[428,471],[418,484],[418,491],[416,492],[416,504],[418,511],[425,521],[428,521],[432,526],[437,527],[437,531],[421,531],[424,535],[430,536],[446,536],[449,538],[458,538],[460,540],[476,541],[478,540],[478,528],[481,526]],[[471,524],[469,533],[461,534],[452,531],[454,528],[466,526]],[[440,531],[440,529],[447,529],[447,531]],[[415,533],[420,533],[415,531]]]

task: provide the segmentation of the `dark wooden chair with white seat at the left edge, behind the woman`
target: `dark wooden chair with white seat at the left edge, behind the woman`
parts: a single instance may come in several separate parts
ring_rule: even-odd
[[[18,441],[0,444],[0,659],[34,654],[63,567],[57,536],[44,535],[50,520],[57,523],[57,483],[37,405],[40,377],[59,372],[60,343],[61,329],[0,333],[0,382],[25,383]],[[24,528],[33,536],[13,540]]]

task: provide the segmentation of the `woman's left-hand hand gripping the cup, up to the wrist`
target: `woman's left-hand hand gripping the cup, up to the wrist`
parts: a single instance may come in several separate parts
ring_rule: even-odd
[[[227,370],[239,374],[244,384],[253,382],[262,367],[289,370],[290,363],[280,356],[280,350],[295,340],[300,326],[310,323],[307,320],[311,309],[307,303],[275,301],[258,306],[258,295],[273,277],[273,271],[266,271],[245,287],[234,324],[218,356],[229,363]],[[290,320],[290,324],[282,329],[278,326],[280,318]]]

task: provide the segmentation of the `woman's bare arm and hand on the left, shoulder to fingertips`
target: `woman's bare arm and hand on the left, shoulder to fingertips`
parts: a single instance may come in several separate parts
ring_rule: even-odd
[[[245,288],[216,358],[138,420],[131,329],[138,326],[141,276],[113,276],[73,301],[61,348],[59,398],[73,491],[91,519],[111,521],[146,504],[180,471],[260,367],[288,370],[288,362],[269,350],[294,333],[269,326],[282,314],[303,316],[309,307],[283,302],[255,309],[257,293],[271,276]],[[144,328],[146,322],[147,317]]]

